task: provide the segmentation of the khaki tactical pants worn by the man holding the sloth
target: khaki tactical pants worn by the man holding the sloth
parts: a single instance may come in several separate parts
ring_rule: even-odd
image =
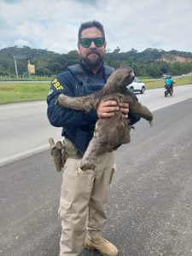
[[[59,215],[61,217],[60,256],[77,256],[85,232],[100,236],[106,223],[109,186],[113,177],[113,152],[97,158],[96,170],[77,171],[79,158],[67,158],[64,166]]]

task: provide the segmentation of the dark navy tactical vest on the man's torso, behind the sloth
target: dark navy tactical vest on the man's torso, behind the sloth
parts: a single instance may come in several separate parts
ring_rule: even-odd
[[[108,77],[113,73],[113,67],[103,66],[104,73],[102,79],[96,79],[84,72],[84,69],[79,65],[69,66],[68,70],[73,73],[73,96],[86,96],[101,90],[106,84]],[[96,115],[96,113],[95,113]],[[63,128],[63,135],[67,137],[76,148],[85,151],[90,140],[93,137],[96,122],[93,125],[84,125],[73,128]]]

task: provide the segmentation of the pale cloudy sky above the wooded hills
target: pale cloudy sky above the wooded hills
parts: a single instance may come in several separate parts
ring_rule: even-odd
[[[0,0],[0,49],[78,49],[82,22],[99,20],[107,49],[192,52],[192,0]]]

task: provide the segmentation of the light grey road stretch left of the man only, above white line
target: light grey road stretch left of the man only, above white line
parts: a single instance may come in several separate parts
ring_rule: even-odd
[[[0,106],[0,165],[49,148],[48,138],[61,138],[61,128],[49,124],[46,102]]]

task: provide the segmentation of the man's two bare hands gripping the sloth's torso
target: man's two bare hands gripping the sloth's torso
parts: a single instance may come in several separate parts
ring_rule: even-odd
[[[115,101],[100,102],[98,108],[96,109],[99,118],[108,118],[114,115],[115,112],[120,111],[124,118],[128,118],[129,104],[122,102],[118,104]]]

